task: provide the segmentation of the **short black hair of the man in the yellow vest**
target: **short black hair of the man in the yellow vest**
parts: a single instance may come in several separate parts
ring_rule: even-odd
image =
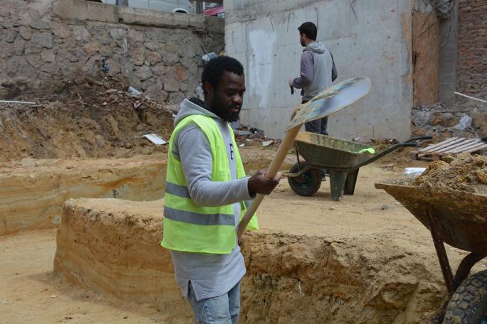
[[[211,87],[216,88],[225,71],[233,72],[237,75],[244,75],[244,67],[238,60],[229,56],[213,58],[204,65],[203,73],[201,73],[203,90],[205,82],[208,82]]]

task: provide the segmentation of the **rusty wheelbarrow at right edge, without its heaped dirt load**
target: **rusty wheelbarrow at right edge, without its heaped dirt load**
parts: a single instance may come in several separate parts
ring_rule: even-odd
[[[422,188],[412,181],[376,183],[375,188],[401,202],[431,232],[449,293],[434,323],[487,323],[487,270],[468,276],[487,257],[487,195]],[[470,252],[455,275],[444,243]]]

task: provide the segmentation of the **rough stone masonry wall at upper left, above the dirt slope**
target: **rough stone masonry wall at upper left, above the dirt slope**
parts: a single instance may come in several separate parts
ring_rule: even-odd
[[[119,8],[84,0],[1,1],[0,97],[21,83],[95,75],[108,63],[160,102],[195,95],[205,50],[223,49],[216,17]],[[123,22],[123,23],[120,23]]]

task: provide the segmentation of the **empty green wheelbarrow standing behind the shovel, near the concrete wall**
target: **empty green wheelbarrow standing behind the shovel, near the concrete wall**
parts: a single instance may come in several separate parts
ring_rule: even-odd
[[[370,150],[372,147],[369,145],[305,131],[295,139],[298,162],[283,175],[288,178],[290,188],[295,193],[311,196],[320,189],[325,172],[330,177],[332,200],[340,201],[342,192],[353,195],[361,166],[366,166],[397,148],[421,146],[422,141],[429,139],[431,136],[413,137],[379,153],[370,153],[373,150]],[[300,156],[305,161],[300,161]]]

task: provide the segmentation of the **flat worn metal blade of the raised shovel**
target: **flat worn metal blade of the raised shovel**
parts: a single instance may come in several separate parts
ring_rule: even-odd
[[[353,104],[369,93],[370,79],[355,77],[332,85],[296,109],[286,131],[308,121],[320,119]]]

